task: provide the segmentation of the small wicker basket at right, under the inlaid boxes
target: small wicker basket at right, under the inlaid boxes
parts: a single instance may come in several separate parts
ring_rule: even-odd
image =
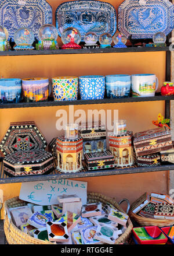
[[[140,226],[158,226],[158,227],[166,227],[166,226],[173,226],[174,220],[169,219],[150,219],[146,217],[139,216],[133,212],[129,212],[129,217],[134,219]]]

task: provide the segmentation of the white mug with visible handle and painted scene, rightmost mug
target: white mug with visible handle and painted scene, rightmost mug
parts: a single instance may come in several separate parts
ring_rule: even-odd
[[[153,97],[158,89],[158,78],[154,74],[131,75],[132,97]]]

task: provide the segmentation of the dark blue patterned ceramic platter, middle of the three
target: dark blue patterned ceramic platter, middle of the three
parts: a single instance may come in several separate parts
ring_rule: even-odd
[[[117,30],[117,15],[110,3],[95,0],[79,0],[61,3],[56,9],[56,27],[59,36],[67,27],[75,27],[81,33],[84,41],[85,34],[95,32],[97,36],[105,32],[112,36]]]

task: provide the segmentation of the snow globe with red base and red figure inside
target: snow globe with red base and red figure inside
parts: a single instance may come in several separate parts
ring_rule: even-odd
[[[61,34],[63,46],[61,49],[81,49],[81,33],[75,27],[67,27]]]

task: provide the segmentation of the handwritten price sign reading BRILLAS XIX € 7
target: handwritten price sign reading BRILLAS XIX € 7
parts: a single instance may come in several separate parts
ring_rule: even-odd
[[[87,183],[66,179],[22,183],[19,198],[32,204],[54,205],[58,202],[58,195],[74,194],[86,204]]]

